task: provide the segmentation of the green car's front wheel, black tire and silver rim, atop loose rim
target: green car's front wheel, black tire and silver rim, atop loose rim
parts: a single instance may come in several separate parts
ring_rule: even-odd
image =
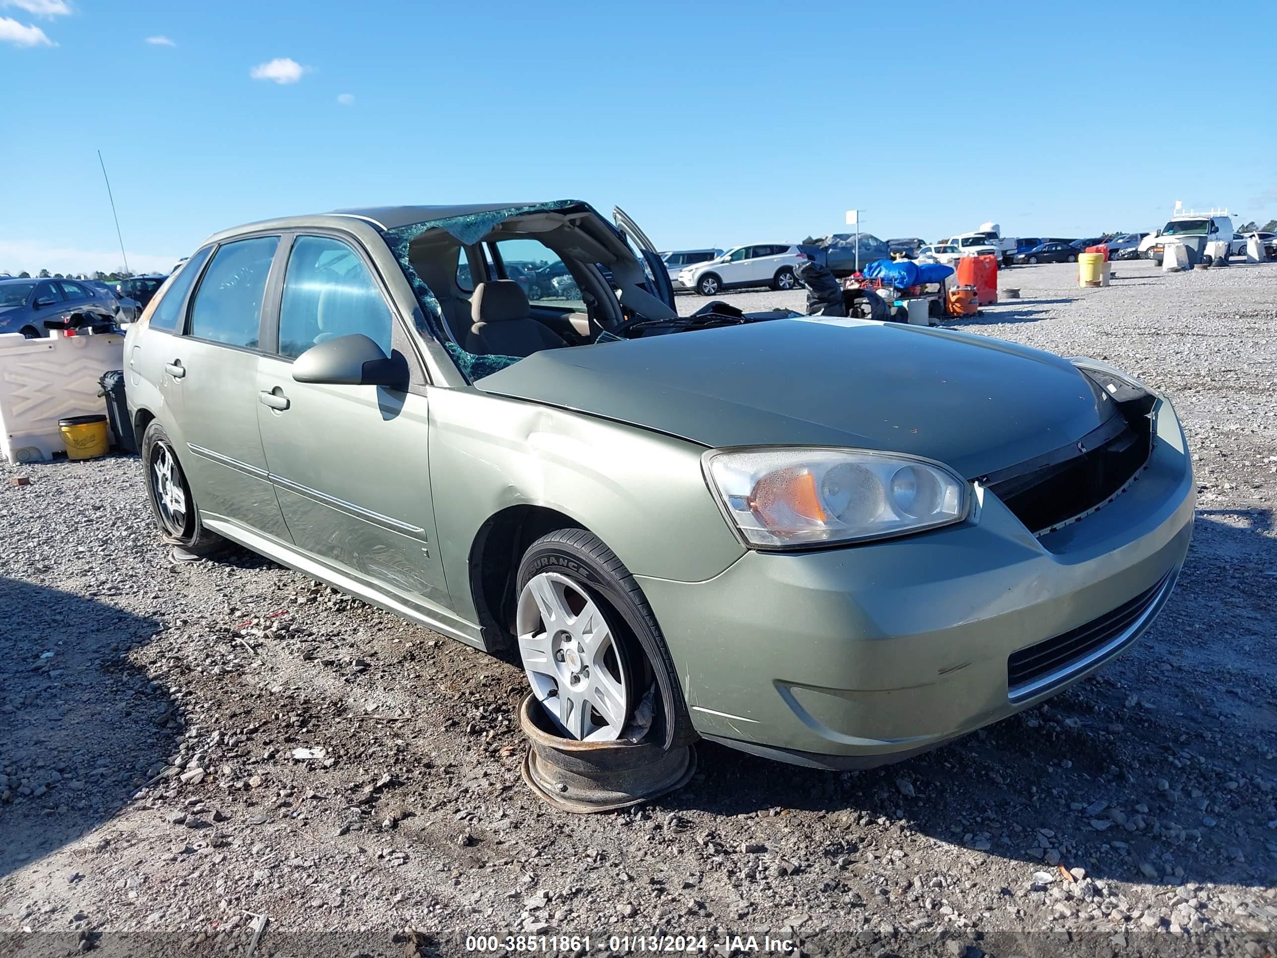
[[[561,529],[518,565],[515,631],[533,694],[570,738],[632,734],[651,685],[654,734],[695,738],[677,669],[651,607],[616,553],[585,529]]]

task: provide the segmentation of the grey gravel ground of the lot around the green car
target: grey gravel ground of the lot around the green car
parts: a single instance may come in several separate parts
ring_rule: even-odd
[[[655,805],[552,812],[520,779],[515,667],[248,553],[172,563],[135,459],[0,466],[0,954],[245,954],[255,915],[280,955],[656,931],[1272,954],[1277,266],[1116,271],[1010,271],[1023,298],[956,328],[1174,397],[1199,482],[1180,585],[1091,681],[872,772],[702,743]]]

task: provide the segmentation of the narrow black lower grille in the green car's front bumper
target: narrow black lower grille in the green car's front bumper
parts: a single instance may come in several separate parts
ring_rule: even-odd
[[[1083,626],[1011,653],[1010,658],[1006,659],[1006,685],[1010,688],[1011,700],[1025,699],[1046,691],[1068,680],[1079,668],[1091,664],[1101,654],[1122,648],[1125,642],[1106,649],[1166,594],[1172,575],[1172,572],[1167,572],[1151,589],[1145,589],[1134,599],[1124,602],[1112,612],[1106,612]],[[1128,641],[1130,639],[1134,639],[1134,635],[1129,636]],[[1043,682],[1042,680],[1047,677],[1054,678]]]

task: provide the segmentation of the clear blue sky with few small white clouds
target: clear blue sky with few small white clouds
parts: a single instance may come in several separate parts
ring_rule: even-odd
[[[619,204],[668,248],[853,206],[882,238],[1263,222],[1274,36],[1267,0],[0,0],[0,271],[119,266],[98,148],[135,270],[401,202]]]

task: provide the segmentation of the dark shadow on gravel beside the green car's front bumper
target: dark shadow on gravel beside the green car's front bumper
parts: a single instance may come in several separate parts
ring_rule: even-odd
[[[816,812],[829,832],[816,849],[829,856],[889,853],[903,829],[1023,874],[1064,865],[1128,883],[1271,884],[1277,538],[1257,512],[1268,511],[1237,516],[1244,528],[1199,516],[1145,637],[1039,706],[865,772],[783,768],[701,742],[697,780],[663,803]]]

